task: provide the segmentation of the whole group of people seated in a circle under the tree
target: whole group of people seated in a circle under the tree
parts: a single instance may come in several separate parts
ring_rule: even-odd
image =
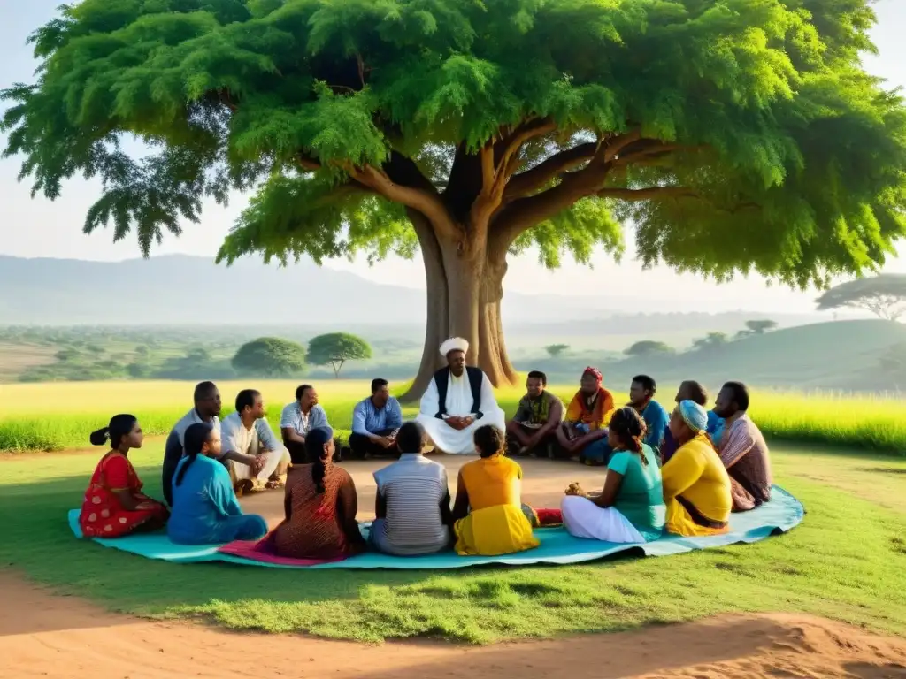
[[[451,353],[461,356],[451,360]],[[668,416],[653,400],[651,378],[634,378],[630,403],[615,408],[601,373],[588,368],[564,413],[546,390],[544,374],[532,372],[516,416],[503,425],[488,407],[487,378],[465,366],[465,353],[458,345],[446,354],[448,368],[432,381],[439,393],[432,395],[429,387],[416,421],[402,422],[399,404],[382,393],[382,380],[356,406],[358,449],[399,454],[374,473],[376,519],[368,540],[356,520],[355,484],[336,464],[333,430],[311,387],[300,387],[296,401],[284,408],[280,445],[258,392],[240,392],[236,412],[221,423],[220,395],[209,382],[196,387],[195,407],[169,436],[166,503],[141,492],[130,464],[130,449],[142,443],[134,416],[114,416],[92,434],[93,444],[109,442],[111,449],[85,494],[82,533],[113,538],[166,525],[170,540],[181,544],[267,535],[277,555],[294,559],[344,559],[367,549],[414,556],[453,548],[462,555],[496,556],[532,549],[539,544],[533,528],[558,520],[576,537],[609,542],[656,540],[665,531],[718,534],[728,531],[730,512],[770,499],[767,446],[747,416],[748,391],[738,382],[724,385],[711,413],[705,389],[684,382]],[[470,406],[464,406],[469,398]],[[486,413],[491,422],[478,424]],[[422,424],[426,420],[431,428]],[[461,452],[464,432],[478,459],[460,468],[453,499],[446,468],[424,452],[429,443],[438,447],[435,433]],[[535,511],[522,502],[522,468],[507,448],[512,454],[541,451],[605,464],[602,490],[586,493],[572,483],[559,512]],[[244,514],[236,499],[237,489],[268,486],[285,487],[284,521],[269,534],[265,520]]]

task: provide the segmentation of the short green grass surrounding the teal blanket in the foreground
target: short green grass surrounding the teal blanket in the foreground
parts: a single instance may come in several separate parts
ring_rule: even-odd
[[[135,453],[149,493],[158,494],[160,443]],[[9,458],[0,463],[0,563],[123,612],[363,641],[488,643],[757,611],[906,634],[906,461],[778,447],[774,461],[778,483],[808,511],[784,536],[659,559],[439,574],[140,559],[74,540],[66,526],[94,455]]]

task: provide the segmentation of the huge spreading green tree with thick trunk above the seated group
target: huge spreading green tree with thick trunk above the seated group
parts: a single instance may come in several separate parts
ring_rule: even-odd
[[[859,61],[870,1],[83,0],[34,33],[6,153],[52,198],[101,177],[84,230],[146,254],[253,187],[228,262],[420,250],[413,389],[448,335],[500,385],[532,245],[587,263],[631,225],[645,264],[795,286],[883,262],[906,116]]]

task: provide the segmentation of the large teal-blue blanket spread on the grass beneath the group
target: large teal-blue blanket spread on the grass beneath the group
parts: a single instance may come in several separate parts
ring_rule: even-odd
[[[317,566],[282,566],[263,563],[250,559],[240,559],[217,551],[218,545],[186,547],[170,542],[165,532],[147,535],[130,535],[115,540],[95,538],[94,541],[104,547],[128,551],[148,559],[163,559],[176,563],[193,563],[196,561],[226,561],[246,566],[266,566],[268,568],[308,568],[308,569],[462,569],[469,566],[481,566],[491,563],[527,566],[537,563],[579,563],[593,561],[622,551],[634,550],[650,557],[664,557],[691,550],[706,550],[709,547],[724,547],[737,542],[757,542],[770,535],[783,533],[795,528],[803,520],[805,509],[802,503],[778,486],[774,486],[771,502],[763,504],[756,510],[742,514],[733,514],[730,518],[730,532],[724,535],[712,535],[705,538],[681,538],[666,535],[660,540],[641,545],[615,544],[599,540],[581,540],[562,528],[543,528],[535,530],[535,537],[541,545],[534,550],[518,554],[505,554],[499,557],[460,557],[453,551],[432,554],[425,557],[394,557],[374,552],[361,554],[344,561],[324,563]],[[78,538],[82,537],[79,529],[79,510],[69,512],[69,524]],[[363,527],[367,531],[368,524]],[[365,532],[363,531],[363,532]]]

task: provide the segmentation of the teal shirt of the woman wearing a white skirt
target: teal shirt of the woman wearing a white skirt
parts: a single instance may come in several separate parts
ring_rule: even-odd
[[[641,464],[639,455],[621,450],[613,454],[607,465],[612,472],[622,474],[614,509],[625,516],[647,540],[657,540],[667,522],[667,507],[660,483],[660,467],[650,445],[642,445],[641,453],[648,464]]]

